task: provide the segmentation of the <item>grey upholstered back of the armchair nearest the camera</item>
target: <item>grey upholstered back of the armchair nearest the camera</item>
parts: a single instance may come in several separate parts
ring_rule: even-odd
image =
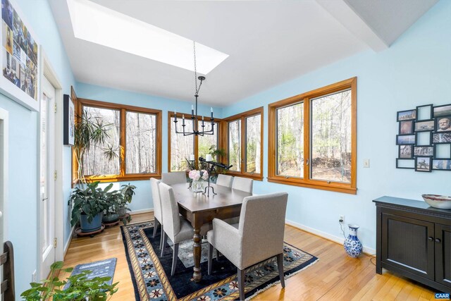
[[[242,236],[242,266],[283,252],[288,193],[245,197],[238,232]]]

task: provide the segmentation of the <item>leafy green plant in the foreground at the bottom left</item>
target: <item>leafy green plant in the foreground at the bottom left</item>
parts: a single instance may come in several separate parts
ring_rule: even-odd
[[[64,301],[104,301],[118,291],[113,283],[109,285],[111,277],[95,277],[88,279],[92,271],[83,271],[78,275],[71,275],[66,280],[60,280],[55,276],[56,271],[63,268],[63,262],[55,262],[50,266],[49,279],[42,280],[41,283],[30,283],[31,288],[25,290],[20,297],[26,301],[46,301],[46,300],[64,300]],[[68,273],[73,268],[63,269]],[[70,282],[68,288],[63,290],[64,285]]]

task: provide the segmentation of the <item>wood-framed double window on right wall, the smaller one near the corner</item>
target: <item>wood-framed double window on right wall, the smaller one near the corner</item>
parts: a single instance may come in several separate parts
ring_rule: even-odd
[[[263,106],[224,119],[228,173],[263,180]]]

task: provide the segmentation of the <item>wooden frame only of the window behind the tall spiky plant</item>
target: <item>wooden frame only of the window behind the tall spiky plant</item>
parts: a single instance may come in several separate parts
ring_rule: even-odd
[[[156,109],[143,108],[140,106],[128,106],[126,104],[114,104],[111,102],[99,102],[92,99],[82,99],[80,97],[76,98],[77,103],[75,104],[75,113],[80,116],[84,106],[90,106],[99,109],[110,109],[119,111],[119,174],[117,175],[101,175],[101,176],[85,176],[87,182],[121,182],[125,180],[149,180],[149,178],[161,178],[161,116],[162,111]],[[126,118],[127,112],[133,113],[145,113],[153,114],[156,116],[156,154],[155,154],[155,173],[126,173],[125,156],[127,154],[126,149]],[[73,171],[78,170],[78,162],[73,154]],[[78,183],[78,178],[76,178],[76,173],[73,172],[73,184]]]

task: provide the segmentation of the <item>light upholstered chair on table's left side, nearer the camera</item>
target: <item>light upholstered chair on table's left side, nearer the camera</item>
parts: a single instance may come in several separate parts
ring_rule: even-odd
[[[163,215],[163,247],[161,248],[161,257],[164,254],[164,246],[166,238],[173,242],[173,257],[171,276],[175,274],[175,266],[178,257],[178,244],[184,240],[192,240],[194,229],[190,222],[180,216],[178,212],[178,204],[175,201],[173,189],[165,183],[159,184],[161,197],[161,213]],[[204,225],[200,229],[200,235],[205,235],[209,231],[208,225]]]

